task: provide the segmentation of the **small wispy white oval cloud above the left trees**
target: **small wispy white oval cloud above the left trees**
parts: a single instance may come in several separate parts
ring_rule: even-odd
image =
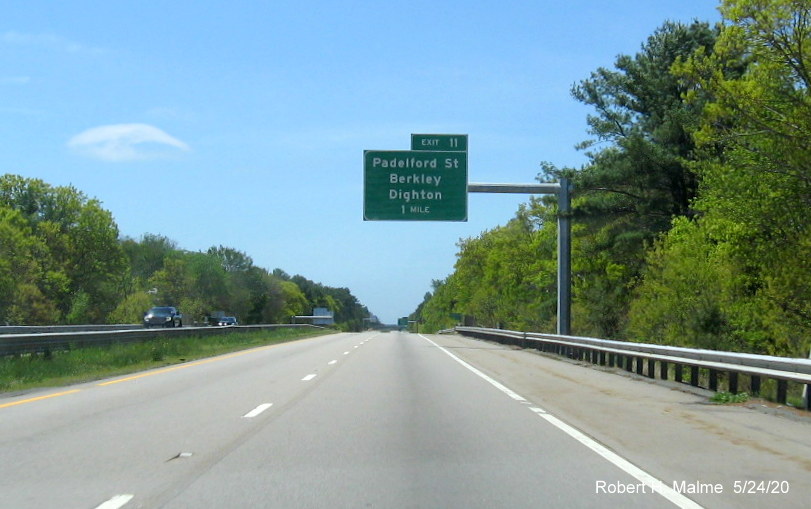
[[[148,124],[114,124],[83,131],[68,141],[72,151],[108,162],[172,157],[189,146]]]

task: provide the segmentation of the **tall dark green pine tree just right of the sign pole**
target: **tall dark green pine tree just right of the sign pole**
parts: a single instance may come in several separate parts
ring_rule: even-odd
[[[717,33],[707,23],[665,23],[636,55],[619,56],[614,70],[600,68],[572,89],[595,111],[588,117],[595,139],[581,144],[590,163],[579,171],[547,167],[546,174],[574,179],[578,333],[624,336],[646,250],[674,217],[694,214],[691,132],[702,102],[699,95],[685,100],[688,85],[670,69],[697,50],[712,53]],[[597,143],[607,146],[594,150]]]

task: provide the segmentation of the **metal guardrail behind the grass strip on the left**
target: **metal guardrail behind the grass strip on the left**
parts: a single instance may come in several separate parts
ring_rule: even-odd
[[[202,337],[218,334],[254,332],[279,328],[314,328],[309,324],[239,325],[228,327],[178,327],[168,329],[145,328],[128,330],[91,330],[81,332],[42,332],[34,334],[4,334],[0,336],[0,357],[22,354],[48,354],[50,352],[109,346],[115,343],[136,343],[158,338]]]

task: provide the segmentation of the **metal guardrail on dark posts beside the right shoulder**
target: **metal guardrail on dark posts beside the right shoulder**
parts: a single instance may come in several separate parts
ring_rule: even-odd
[[[707,372],[707,386],[703,388],[711,391],[719,390],[719,375],[722,373],[726,374],[726,389],[731,393],[738,392],[739,375],[749,376],[753,395],[760,394],[762,379],[772,379],[777,384],[775,399],[780,404],[786,404],[788,382],[805,385],[806,394],[811,394],[811,359],[479,327],[456,327],[454,330],[478,339],[533,348],[601,366],[618,367],[629,372],[635,371],[649,378],[656,378],[658,364],[659,378],[670,379],[669,366],[672,364],[673,379],[683,383],[684,370],[688,368],[689,383],[695,387],[700,386],[699,370],[703,369]],[[811,397],[806,396],[803,406],[806,410],[811,410]]]

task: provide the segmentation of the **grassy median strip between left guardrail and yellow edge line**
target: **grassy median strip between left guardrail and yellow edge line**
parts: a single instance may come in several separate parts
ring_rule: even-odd
[[[89,382],[334,332],[276,329],[81,348],[54,352],[47,357],[26,355],[0,358],[0,393]]]

